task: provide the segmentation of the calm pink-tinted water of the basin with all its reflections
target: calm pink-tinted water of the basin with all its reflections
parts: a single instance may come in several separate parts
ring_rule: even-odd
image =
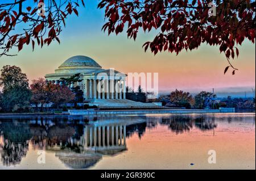
[[[255,169],[255,113],[0,116],[0,133],[0,169]]]

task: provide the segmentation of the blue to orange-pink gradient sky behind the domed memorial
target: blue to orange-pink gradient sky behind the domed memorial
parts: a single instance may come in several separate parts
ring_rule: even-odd
[[[80,7],[79,17],[75,14],[66,20],[66,27],[60,35],[61,43],[53,42],[49,47],[24,47],[15,57],[1,57],[3,65],[19,66],[30,81],[45,74],[54,73],[65,60],[76,55],[93,58],[104,69],[114,68],[123,73],[158,73],[159,92],[175,89],[189,92],[212,91],[220,95],[252,96],[255,89],[255,44],[244,41],[238,46],[240,55],[231,60],[239,70],[232,75],[225,55],[218,47],[202,44],[192,52],[176,54],[164,52],[154,56],[144,52],[142,45],[154,39],[156,33],[139,32],[137,40],[127,39],[125,32],[108,36],[101,31],[104,24],[104,10],[97,9],[99,1],[86,0]],[[35,5],[34,5],[35,6]],[[33,6],[32,6],[33,9]]]

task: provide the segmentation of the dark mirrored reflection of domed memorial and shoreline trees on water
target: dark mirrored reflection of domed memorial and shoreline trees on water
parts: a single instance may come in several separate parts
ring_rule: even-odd
[[[19,164],[26,156],[28,144],[34,150],[54,151],[71,169],[87,169],[103,155],[127,150],[126,138],[158,124],[172,132],[183,133],[193,127],[201,131],[217,127],[214,116],[39,116],[28,119],[0,120],[0,154],[5,166]]]

